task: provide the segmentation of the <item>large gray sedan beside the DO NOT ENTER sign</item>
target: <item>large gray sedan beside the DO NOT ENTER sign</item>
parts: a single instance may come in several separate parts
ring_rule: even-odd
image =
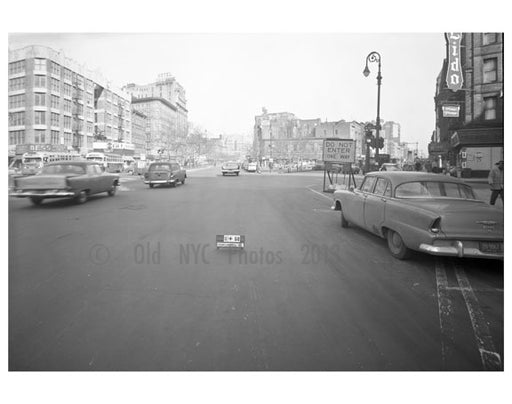
[[[341,226],[386,238],[391,255],[503,259],[503,212],[477,200],[463,180],[410,171],[368,173],[360,187],[337,190]]]

